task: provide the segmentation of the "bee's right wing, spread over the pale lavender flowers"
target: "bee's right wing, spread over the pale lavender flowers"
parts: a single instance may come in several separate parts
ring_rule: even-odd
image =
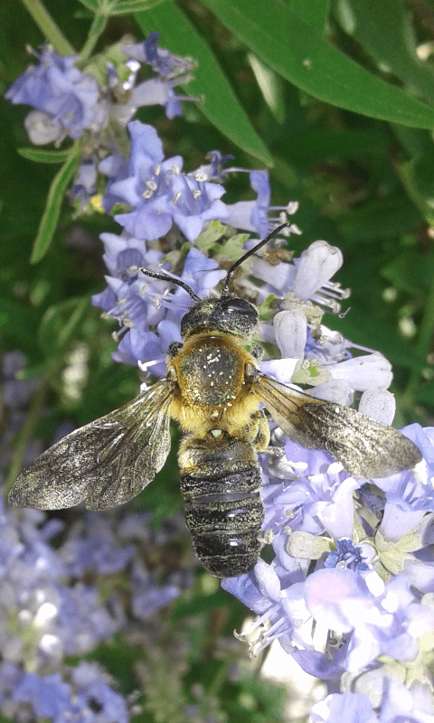
[[[252,391],[290,439],[325,449],[354,477],[386,477],[412,469],[422,458],[397,429],[355,409],[309,397],[265,374]]]

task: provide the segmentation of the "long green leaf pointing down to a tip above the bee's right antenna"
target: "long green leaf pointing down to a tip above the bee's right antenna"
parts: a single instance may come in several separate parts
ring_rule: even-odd
[[[198,106],[203,115],[237,146],[262,163],[272,165],[267,147],[250,125],[249,117],[241,108],[218,61],[173,0],[166,0],[163,5],[146,13],[137,13],[136,20],[146,35],[156,30],[160,33],[160,45],[198,62],[187,92],[197,96],[204,94],[203,103]]]

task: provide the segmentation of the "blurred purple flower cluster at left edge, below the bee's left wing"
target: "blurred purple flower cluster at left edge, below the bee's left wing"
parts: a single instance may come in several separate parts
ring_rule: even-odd
[[[91,650],[117,632],[124,617],[116,601],[103,603],[95,588],[68,585],[67,566],[49,545],[58,521],[44,526],[43,512],[17,514],[2,508],[0,652],[36,670],[58,664],[66,653]]]

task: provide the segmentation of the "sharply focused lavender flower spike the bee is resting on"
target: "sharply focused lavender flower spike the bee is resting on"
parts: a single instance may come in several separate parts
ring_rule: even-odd
[[[110,176],[108,188],[110,199],[128,202],[132,210],[115,217],[124,227],[119,236],[101,236],[108,288],[93,302],[118,319],[115,359],[161,376],[167,347],[181,340],[181,319],[192,300],[179,286],[144,277],[139,269],[163,268],[174,277],[176,272],[197,296],[218,294],[223,269],[242,253],[235,230],[254,228],[261,237],[277,221],[270,219],[265,172],[250,172],[256,200],[224,204],[222,183],[231,169],[223,171],[221,165],[217,171],[211,165],[207,171],[203,167],[183,174],[180,158],[164,160],[154,128],[134,121],[128,129],[129,164],[120,180]],[[296,210],[288,204],[286,212]],[[285,210],[278,211],[284,219]],[[184,254],[181,231],[188,242]],[[299,232],[297,226],[291,232]],[[163,235],[164,250],[157,240]],[[261,369],[280,381],[308,385],[319,399],[351,405],[361,393],[359,409],[391,424],[390,363],[380,352],[351,343],[323,324],[325,312],[340,314],[348,296],[332,280],[342,262],[339,249],[320,240],[299,258],[289,259],[276,244],[246,264],[248,273],[237,284],[259,307],[256,341],[277,350],[276,358],[261,362]],[[332,690],[343,675],[368,674],[370,681],[374,675],[377,685],[388,681],[387,690],[395,690],[397,681],[379,662],[383,656],[403,667],[418,661],[420,680],[428,679],[420,640],[434,630],[428,596],[434,560],[427,549],[434,519],[434,429],[413,425],[402,431],[420,447],[423,462],[416,471],[367,484],[349,477],[327,453],[298,446],[274,429],[275,454],[261,455],[261,465],[264,540],[271,542],[275,559],[271,564],[259,560],[248,575],[222,581],[222,587],[259,615],[241,634],[252,654],[277,638]],[[366,699],[362,706],[368,705],[362,692],[357,696],[357,701]],[[382,705],[390,705],[390,697],[384,696]],[[329,702],[317,704],[316,715],[331,711],[329,718],[312,719],[335,720],[340,697],[334,693]]]

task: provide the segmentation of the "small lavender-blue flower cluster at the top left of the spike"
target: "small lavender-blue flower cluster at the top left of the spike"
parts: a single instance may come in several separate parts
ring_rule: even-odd
[[[177,96],[174,87],[188,82],[193,61],[158,48],[157,40],[158,33],[151,33],[145,42],[124,46],[127,80],[108,61],[105,84],[77,67],[79,56],[61,56],[44,45],[41,52],[33,52],[39,64],[29,66],[5,98],[34,108],[24,125],[36,146],[60,143],[67,136],[80,138],[85,131],[96,136],[110,118],[125,125],[144,106],[162,105],[167,117],[178,116],[180,101],[190,98]],[[158,77],[137,84],[142,63],[150,65]]]

